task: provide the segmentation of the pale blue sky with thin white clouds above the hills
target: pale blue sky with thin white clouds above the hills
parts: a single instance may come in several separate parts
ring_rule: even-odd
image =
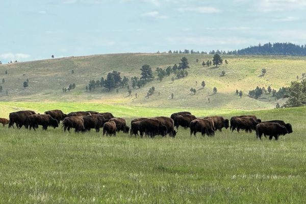
[[[306,44],[306,0],[0,0],[0,61]]]

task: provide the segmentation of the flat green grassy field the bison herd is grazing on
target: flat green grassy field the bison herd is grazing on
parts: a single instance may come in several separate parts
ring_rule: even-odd
[[[95,104],[1,103],[3,110],[111,110],[118,117],[169,115],[181,109]],[[96,107],[96,108],[95,108]],[[75,110],[74,109],[74,110]],[[186,110],[186,109],[185,109]],[[0,127],[0,203],[303,203],[306,108],[251,112],[188,109],[196,116],[256,114],[283,119],[279,141],[254,133],[190,138],[63,133]],[[138,112],[137,112],[138,111]],[[6,114],[4,114],[6,115]]]

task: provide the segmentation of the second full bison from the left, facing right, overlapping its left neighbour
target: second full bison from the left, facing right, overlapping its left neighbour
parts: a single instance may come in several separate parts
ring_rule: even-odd
[[[52,126],[54,128],[59,126],[59,122],[57,119],[54,119],[50,115],[45,114],[33,114],[29,116],[29,125],[30,130],[33,127],[34,131],[38,125],[42,125],[42,130],[47,130],[48,126]]]

